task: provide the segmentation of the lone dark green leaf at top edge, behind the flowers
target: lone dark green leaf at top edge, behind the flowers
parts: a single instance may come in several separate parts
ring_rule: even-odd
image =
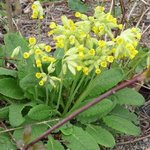
[[[82,3],[80,0],[68,0],[68,5],[72,10],[85,13],[88,11],[88,6]]]

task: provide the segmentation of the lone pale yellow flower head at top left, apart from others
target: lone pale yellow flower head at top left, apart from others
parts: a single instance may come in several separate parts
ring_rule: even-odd
[[[43,19],[43,15],[44,15],[44,12],[43,12],[43,8],[42,8],[40,2],[35,1],[32,4],[32,16],[31,16],[31,18],[32,19]]]

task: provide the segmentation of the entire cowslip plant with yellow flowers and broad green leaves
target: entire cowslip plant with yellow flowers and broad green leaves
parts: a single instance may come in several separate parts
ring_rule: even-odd
[[[33,19],[43,18],[39,2],[34,2],[32,9]],[[16,64],[16,70],[0,68],[0,96],[8,102],[0,109],[0,118],[11,127],[37,123],[27,137],[23,129],[13,132],[14,138],[21,140],[19,143],[29,143],[53,125],[51,120],[64,118],[129,79],[147,57],[147,52],[137,49],[140,29],[129,28],[115,37],[115,29],[122,30],[122,25],[103,7],[96,7],[93,16],[76,12],[75,17],[80,21],[62,16],[61,25],[50,23],[48,35],[55,43],[55,51],[35,37],[30,37],[27,43],[17,34],[5,36],[2,55],[7,58],[4,61]],[[138,57],[138,63],[132,64]],[[115,135],[140,133],[137,116],[127,106],[143,103],[142,95],[124,88],[60,127],[54,136],[48,137],[45,147],[50,150],[114,147]],[[43,121],[49,119],[47,123]],[[39,125],[40,121],[44,123]]]

